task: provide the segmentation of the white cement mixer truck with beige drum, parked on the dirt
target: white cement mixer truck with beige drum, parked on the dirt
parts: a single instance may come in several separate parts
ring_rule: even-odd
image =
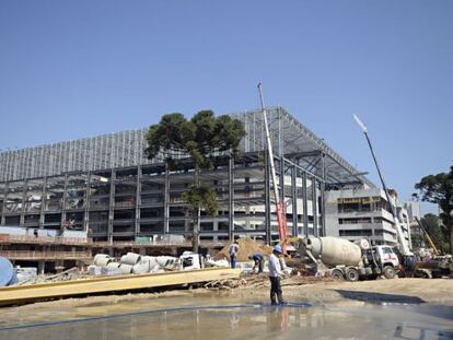
[[[362,238],[357,243],[339,237],[306,237],[299,242],[299,254],[315,275],[358,281],[384,275],[393,279],[399,260],[391,246],[370,246]]]

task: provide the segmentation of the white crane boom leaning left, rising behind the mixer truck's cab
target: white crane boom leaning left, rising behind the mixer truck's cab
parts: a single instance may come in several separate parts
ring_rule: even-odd
[[[390,199],[387,186],[385,185],[385,181],[384,181],[384,175],[381,172],[381,167],[379,166],[378,159],[376,159],[376,155],[374,153],[373,146],[371,144],[370,137],[368,136],[368,129],[367,129],[365,125],[359,119],[359,117],[353,115],[353,119],[356,119],[356,122],[362,129],[363,134],[367,138],[367,142],[368,142],[368,146],[370,148],[371,155],[373,156],[374,165],[376,166],[378,175],[379,175],[379,178],[381,179],[382,188],[384,189],[385,197],[387,199],[388,207],[390,207],[393,220],[395,222],[396,234],[397,234],[398,243],[399,243],[399,251],[402,253],[404,258],[414,257],[414,253],[410,251],[409,245],[407,244],[407,242],[404,237],[402,225],[399,224],[399,219],[398,219],[398,215],[396,213],[396,208],[394,207],[394,204],[392,204],[392,201]]]

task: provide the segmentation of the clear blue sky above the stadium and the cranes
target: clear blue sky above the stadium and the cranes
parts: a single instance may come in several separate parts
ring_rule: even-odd
[[[453,1],[0,0],[2,150],[255,108],[258,81],[378,183],[359,115],[403,199],[452,164]]]

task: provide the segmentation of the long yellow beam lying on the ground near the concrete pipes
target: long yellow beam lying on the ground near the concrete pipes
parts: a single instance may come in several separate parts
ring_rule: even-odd
[[[0,306],[55,297],[130,291],[239,278],[240,269],[208,268],[153,274],[129,274],[86,280],[0,288]]]

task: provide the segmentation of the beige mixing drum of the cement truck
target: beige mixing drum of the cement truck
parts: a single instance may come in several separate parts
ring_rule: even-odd
[[[309,237],[306,249],[327,266],[359,266],[362,251],[358,245],[338,237]]]

